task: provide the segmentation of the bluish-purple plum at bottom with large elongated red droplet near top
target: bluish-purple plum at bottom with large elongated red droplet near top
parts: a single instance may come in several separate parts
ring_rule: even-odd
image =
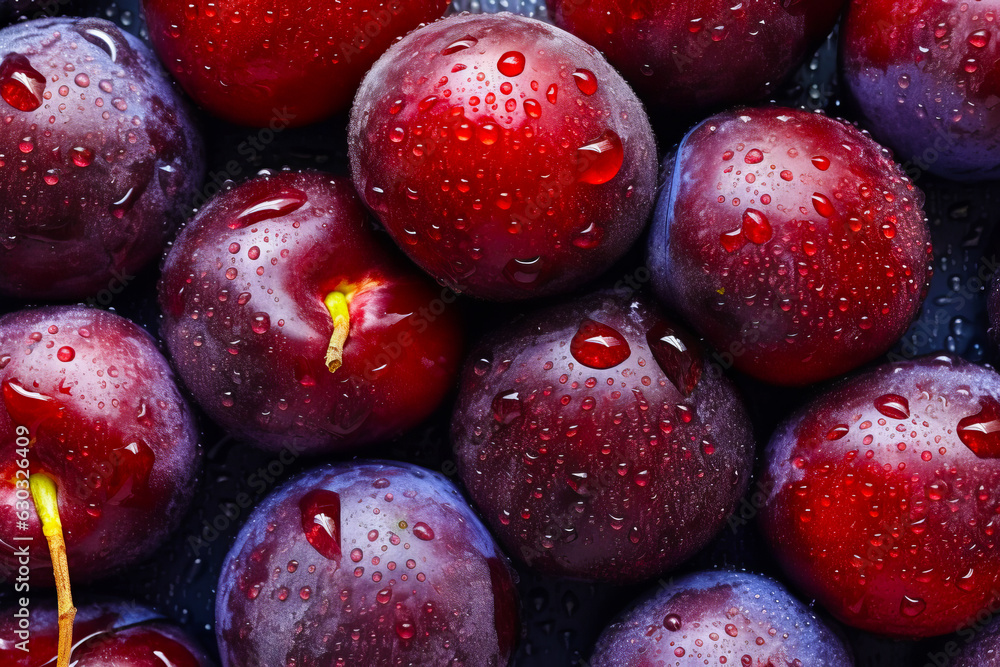
[[[318,525],[303,510],[319,494],[336,507],[319,533],[325,553],[303,530]],[[444,476],[395,462],[322,466],[265,499],[229,552],[216,603],[222,664],[506,665],[520,630],[511,576]]]

